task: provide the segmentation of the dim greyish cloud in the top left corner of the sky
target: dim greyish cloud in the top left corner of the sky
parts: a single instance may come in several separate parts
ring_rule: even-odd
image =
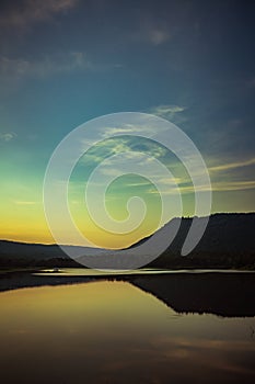
[[[1,27],[24,29],[34,23],[51,20],[59,13],[66,13],[78,4],[79,0],[23,0],[21,4],[9,5],[0,15]]]

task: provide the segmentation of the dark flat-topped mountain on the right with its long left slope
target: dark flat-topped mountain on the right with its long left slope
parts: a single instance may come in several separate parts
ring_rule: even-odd
[[[205,217],[195,218],[197,228],[204,221]],[[82,256],[80,260],[89,267],[113,270],[143,266],[162,269],[255,269],[255,213],[211,215],[199,244],[183,257],[181,251],[192,222],[193,218],[174,218],[152,236],[127,249],[94,257]]]

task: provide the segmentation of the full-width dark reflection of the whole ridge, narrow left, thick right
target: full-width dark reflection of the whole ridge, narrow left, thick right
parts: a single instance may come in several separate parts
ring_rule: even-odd
[[[246,272],[178,272],[121,276],[5,273],[0,279],[0,291],[102,280],[127,281],[161,300],[177,313],[206,313],[224,317],[255,316],[255,274]]]

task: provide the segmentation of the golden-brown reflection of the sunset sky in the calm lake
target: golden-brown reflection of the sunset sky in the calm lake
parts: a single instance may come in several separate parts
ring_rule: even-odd
[[[4,383],[252,383],[255,318],[179,315],[128,282],[0,294]]]

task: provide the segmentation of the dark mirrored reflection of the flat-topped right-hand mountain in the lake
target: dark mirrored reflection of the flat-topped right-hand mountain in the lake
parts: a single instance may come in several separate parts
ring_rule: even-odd
[[[255,316],[254,273],[176,273],[128,280],[177,313]]]

